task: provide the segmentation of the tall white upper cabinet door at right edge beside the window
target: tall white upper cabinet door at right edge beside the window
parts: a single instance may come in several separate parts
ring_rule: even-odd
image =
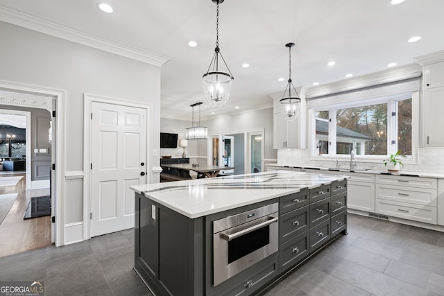
[[[425,145],[428,147],[444,147],[444,87],[425,90],[424,113]]]

